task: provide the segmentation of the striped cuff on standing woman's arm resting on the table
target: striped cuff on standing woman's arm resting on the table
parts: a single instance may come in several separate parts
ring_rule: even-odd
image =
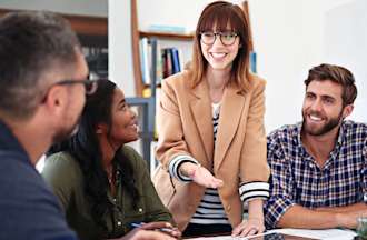
[[[252,199],[267,200],[269,198],[269,183],[260,181],[241,183],[239,194],[244,203]]]

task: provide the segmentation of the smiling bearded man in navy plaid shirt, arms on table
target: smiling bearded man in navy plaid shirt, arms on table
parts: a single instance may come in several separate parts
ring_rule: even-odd
[[[267,228],[356,228],[367,216],[367,124],[345,120],[357,97],[354,76],[320,64],[305,84],[302,122],[267,139]]]

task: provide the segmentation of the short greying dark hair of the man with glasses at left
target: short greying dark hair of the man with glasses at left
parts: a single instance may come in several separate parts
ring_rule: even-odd
[[[52,83],[46,76],[70,71],[78,48],[69,22],[56,13],[23,11],[1,18],[0,114],[31,117]]]

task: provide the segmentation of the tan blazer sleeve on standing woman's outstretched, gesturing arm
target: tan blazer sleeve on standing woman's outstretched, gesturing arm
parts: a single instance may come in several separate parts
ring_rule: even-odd
[[[157,130],[159,132],[157,159],[163,169],[169,170],[169,163],[173,158],[187,159],[195,162],[190,156],[184,138],[179,99],[171,80],[162,81],[161,94],[157,110]]]

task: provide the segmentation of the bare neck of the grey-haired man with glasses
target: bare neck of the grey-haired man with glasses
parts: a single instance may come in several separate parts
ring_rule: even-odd
[[[6,124],[11,129],[20,144],[24,148],[33,166],[41,156],[52,144],[52,134],[44,124],[36,121],[7,121]]]

